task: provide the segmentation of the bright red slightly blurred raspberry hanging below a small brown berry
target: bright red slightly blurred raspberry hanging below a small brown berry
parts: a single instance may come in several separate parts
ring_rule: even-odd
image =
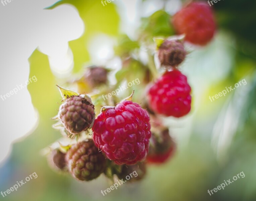
[[[166,72],[148,91],[149,107],[165,116],[182,117],[191,109],[191,88],[179,70]]]

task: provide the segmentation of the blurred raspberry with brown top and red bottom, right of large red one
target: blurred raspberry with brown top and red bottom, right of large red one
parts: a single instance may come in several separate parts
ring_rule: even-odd
[[[147,162],[156,164],[166,162],[174,153],[175,147],[168,129],[159,132],[159,134],[153,133],[150,139]]]

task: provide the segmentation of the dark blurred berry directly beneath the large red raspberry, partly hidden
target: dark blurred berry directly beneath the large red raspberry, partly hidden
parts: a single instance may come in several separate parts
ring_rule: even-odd
[[[127,182],[139,181],[144,178],[145,174],[146,164],[144,162],[138,162],[134,165],[122,165],[121,171],[116,173],[119,179]]]

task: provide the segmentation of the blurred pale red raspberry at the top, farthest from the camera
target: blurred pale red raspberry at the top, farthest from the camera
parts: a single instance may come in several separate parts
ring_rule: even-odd
[[[216,25],[210,6],[205,2],[193,2],[178,11],[173,17],[178,34],[185,34],[185,40],[205,45],[214,35]]]

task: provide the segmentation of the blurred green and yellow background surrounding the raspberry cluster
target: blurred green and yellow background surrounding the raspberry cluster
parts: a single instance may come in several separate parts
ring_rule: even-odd
[[[150,2],[158,4],[158,0]],[[75,6],[85,24],[84,34],[69,42],[76,74],[91,59],[87,47],[94,35],[102,33],[117,40],[123,34],[121,12],[114,2],[103,6],[100,0],[63,0],[54,7],[64,3]],[[55,84],[64,84],[66,80],[54,76],[48,56],[36,50],[29,59],[29,77],[36,75],[38,81],[28,90],[39,113],[39,125],[31,135],[14,144],[11,156],[0,168],[0,189],[5,191],[34,172],[38,178],[5,198],[0,196],[0,200],[255,201],[256,2],[218,1],[213,9],[218,24],[214,41],[190,53],[181,67],[193,89],[192,112],[182,120],[164,120],[177,142],[174,157],[161,166],[148,166],[147,176],[141,182],[123,184],[106,196],[100,191],[111,184],[104,176],[86,183],[75,181],[69,175],[54,172],[40,154],[61,137],[52,128],[54,122],[50,118],[57,114],[57,102],[61,102]],[[159,23],[163,30],[168,30],[163,21]],[[246,85],[214,102],[209,100],[209,95],[242,79],[246,79]],[[211,196],[207,193],[240,172],[244,172],[245,178]]]

